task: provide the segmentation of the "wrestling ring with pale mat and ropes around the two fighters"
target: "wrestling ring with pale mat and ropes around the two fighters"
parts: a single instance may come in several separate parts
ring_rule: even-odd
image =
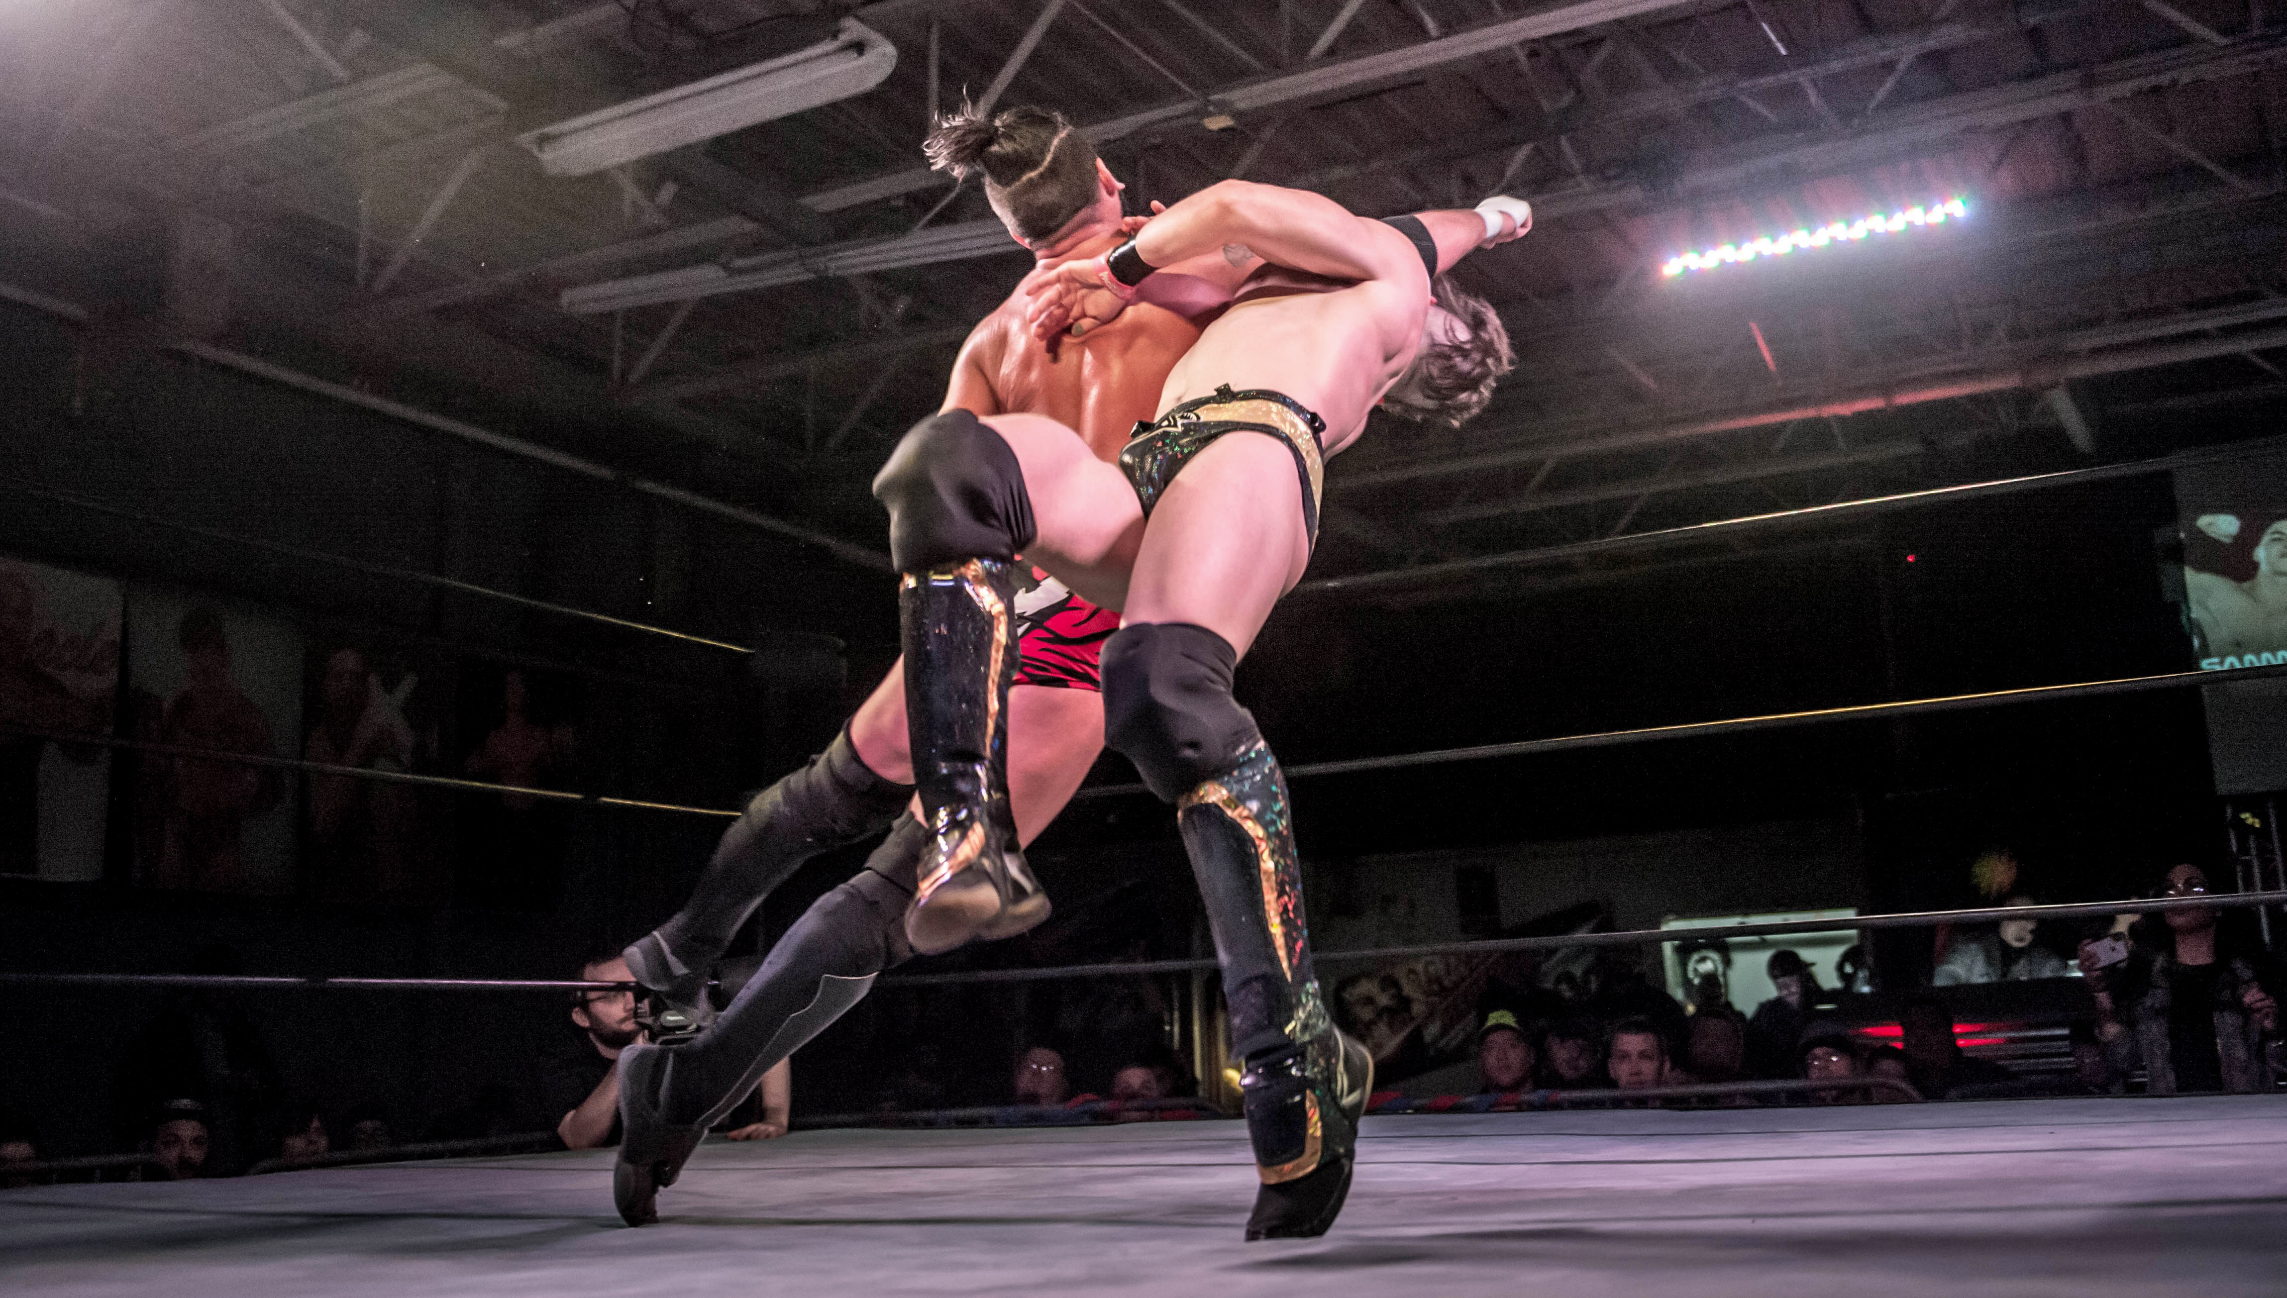
[[[2143,471],[2173,464],[2143,466]],[[2118,473],[2118,471],[2106,471]],[[2051,475],[2054,478],[2054,475]],[[2015,491],[2045,480],[1983,484]],[[1962,489],[1955,489],[1960,494]],[[1862,503],[1868,510],[1889,500]],[[1770,526],[1793,512],[1745,521]],[[224,537],[226,539],[226,537]],[[252,542],[249,542],[252,544]],[[300,555],[311,558],[311,555]],[[322,558],[322,555],[318,555]],[[370,564],[368,564],[370,567]],[[421,574],[368,574],[425,580]],[[499,594],[460,583],[462,594]],[[524,606],[535,601],[505,596]],[[576,608],[542,612],[698,640]],[[741,644],[704,647],[752,654]],[[2234,679],[2287,667],[2230,672]],[[1356,770],[1891,720],[2214,683],[2216,672],[2070,681],[1466,750],[1297,766]],[[304,775],[521,793],[663,816],[734,809],[416,772],[181,750],[101,734],[64,743],[245,761]],[[1134,795],[1130,786],[1084,798]],[[1727,926],[1724,937],[2081,919],[2170,907],[2278,907],[2287,880],[2241,891],[2042,907]],[[1573,932],[1370,951],[1329,967],[1455,953],[1649,946],[1670,930]],[[885,987],[1182,976],[1212,960],[899,974]],[[617,983],[549,978],[194,976],[0,971],[18,999],[50,989],[194,987],[231,994],[565,994]],[[1862,1088],[1896,1085],[1864,1079]],[[1667,1088],[1704,1101],[1802,1083]],[[1672,1095],[1670,1095],[1672,1092]],[[55,1179],[0,1191],[9,1291],[123,1293],[149,1284],[247,1298],[366,1293],[1423,1293],[2077,1298],[2278,1293],[2287,1275],[2287,1097],[2090,1097],[1811,1108],[1608,1108],[1615,1092],[1496,1104],[1384,1104],[1365,1117],[1356,1188],[1317,1241],[1240,1243],[1253,1195],[1240,1122],[1198,1101],[1077,1111],[830,1115],[762,1145],[709,1140],[663,1220],[617,1225],[611,1149],[528,1152],[544,1136],[336,1154],[293,1175],[82,1184],[135,1156],[64,1159]],[[1914,1099],[1914,1097],[1894,1097]],[[1587,1101],[1587,1104],[1583,1104]],[[1169,1108],[1157,1113],[1155,1108]],[[1514,1108],[1514,1111],[1503,1111]],[[1180,1111],[1180,1113],[1176,1113]],[[1139,1117],[1203,1117],[1141,1122]],[[256,1168],[258,1172],[284,1168]]]

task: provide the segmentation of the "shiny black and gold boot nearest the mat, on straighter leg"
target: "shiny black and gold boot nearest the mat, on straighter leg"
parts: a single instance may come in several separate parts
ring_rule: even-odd
[[[1230,1005],[1230,1053],[1262,1188],[1246,1239],[1326,1234],[1356,1163],[1374,1060],[1326,1015],[1278,759],[1256,738],[1178,809]]]

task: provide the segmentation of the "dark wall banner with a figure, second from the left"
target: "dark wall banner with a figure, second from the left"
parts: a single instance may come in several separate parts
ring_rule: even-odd
[[[128,708],[146,743],[293,756],[302,631],[220,601],[128,592]],[[229,759],[137,754],[135,878],[160,889],[295,887],[295,782]]]

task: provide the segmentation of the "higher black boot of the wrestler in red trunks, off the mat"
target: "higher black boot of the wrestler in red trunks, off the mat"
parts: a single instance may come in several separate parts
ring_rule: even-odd
[[[910,784],[867,768],[844,727],[826,752],[748,802],[723,832],[684,910],[627,948],[636,983],[695,1021],[709,1021],[707,974],[762,898],[810,857],[878,834],[910,798]]]

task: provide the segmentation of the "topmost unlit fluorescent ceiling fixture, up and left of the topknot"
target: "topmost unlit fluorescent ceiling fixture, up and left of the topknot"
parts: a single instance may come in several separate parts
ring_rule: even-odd
[[[549,176],[585,176],[860,96],[894,66],[897,46],[887,37],[844,18],[830,41],[542,126],[517,144],[531,149]]]

